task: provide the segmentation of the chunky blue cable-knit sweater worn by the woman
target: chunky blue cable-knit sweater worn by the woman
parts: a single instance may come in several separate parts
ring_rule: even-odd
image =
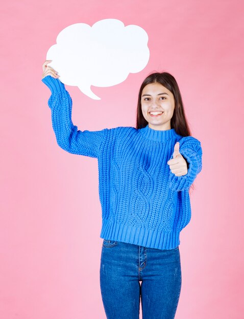
[[[51,75],[42,82],[52,93],[48,106],[58,145],[98,160],[100,237],[157,249],[179,246],[180,231],[191,218],[189,187],[202,170],[200,141],[182,137],[174,128],[154,130],[148,125],[78,130],[64,84]],[[167,165],[178,141],[188,163],[184,176],[176,176]]]

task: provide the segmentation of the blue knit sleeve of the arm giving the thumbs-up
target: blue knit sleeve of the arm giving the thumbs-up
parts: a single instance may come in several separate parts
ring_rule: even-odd
[[[202,170],[202,147],[201,142],[191,136],[183,137],[180,143],[180,153],[185,158],[188,166],[187,174],[176,176],[169,172],[169,188],[175,191],[182,191],[190,188],[194,179]],[[170,159],[173,158],[173,154]]]

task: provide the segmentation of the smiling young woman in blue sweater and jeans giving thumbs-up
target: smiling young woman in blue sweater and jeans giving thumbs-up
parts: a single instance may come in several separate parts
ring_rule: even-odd
[[[72,100],[57,72],[43,64],[42,82],[58,145],[96,157],[104,239],[100,285],[108,319],[175,317],[181,291],[180,231],[189,223],[189,189],[202,169],[174,76],[153,73],[138,96],[135,127],[78,130]],[[140,284],[141,282],[141,284]]]

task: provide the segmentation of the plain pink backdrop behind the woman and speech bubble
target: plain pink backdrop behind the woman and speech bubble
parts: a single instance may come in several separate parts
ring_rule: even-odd
[[[176,77],[203,148],[191,222],[180,237],[176,319],[243,318],[243,6],[230,0],[2,4],[0,317],[106,318],[97,159],[57,145],[51,93],[41,82],[58,33],[105,18],[141,26],[150,60],[124,83],[92,87],[99,101],[66,86],[72,120],[81,130],[135,126],[144,77]]]

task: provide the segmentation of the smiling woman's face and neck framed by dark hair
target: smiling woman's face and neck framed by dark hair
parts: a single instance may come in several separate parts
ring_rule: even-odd
[[[141,111],[148,126],[157,130],[171,129],[170,119],[174,114],[174,95],[160,83],[151,83],[141,93]],[[153,115],[150,112],[161,112]]]

